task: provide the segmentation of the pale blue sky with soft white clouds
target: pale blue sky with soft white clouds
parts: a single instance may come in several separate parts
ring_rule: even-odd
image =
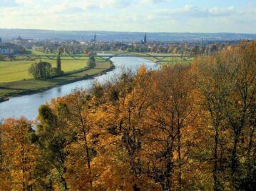
[[[256,33],[256,0],[0,0],[0,29]]]

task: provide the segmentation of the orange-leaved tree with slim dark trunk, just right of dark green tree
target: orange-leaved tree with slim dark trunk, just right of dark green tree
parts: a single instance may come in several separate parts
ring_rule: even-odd
[[[73,142],[66,147],[69,155],[65,177],[72,190],[93,189],[91,160],[96,155],[93,145],[97,133],[93,134],[93,121],[87,99],[86,91],[77,89],[61,102],[68,108],[68,125],[74,135]]]

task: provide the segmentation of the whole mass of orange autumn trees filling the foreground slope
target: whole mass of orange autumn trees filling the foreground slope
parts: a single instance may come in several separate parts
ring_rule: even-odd
[[[4,120],[0,190],[253,190],[255,111],[256,42],[142,66]]]

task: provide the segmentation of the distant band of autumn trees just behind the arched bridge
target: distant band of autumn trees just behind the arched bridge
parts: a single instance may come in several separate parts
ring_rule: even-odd
[[[77,43],[41,43],[41,46],[36,46],[37,51],[45,53],[56,53],[61,46],[65,54],[88,53],[93,51],[128,51],[138,53],[173,53],[183,55],[210,55],[211,53],[222,51],[224,48],[229,48],[235,42],[220,42],[220,43],[150,43],[150,44],[136,44],[136,43],[88,43],[81,45]]]

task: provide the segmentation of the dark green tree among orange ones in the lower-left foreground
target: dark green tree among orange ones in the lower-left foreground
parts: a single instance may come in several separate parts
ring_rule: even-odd
[[[57,115],[48,105],[41,105],[39,108],[40,120],[34,135],[34,143],[40,148],[36,174],[39,180],[43,180],[39,185],[41,189],[58,186],[60,190],[68,190],[63,176],[66,173],[65,162],[68,155],[64,148],[69,143],[66,120],[63,118],[66,112],[63,105],[58,107]]]

